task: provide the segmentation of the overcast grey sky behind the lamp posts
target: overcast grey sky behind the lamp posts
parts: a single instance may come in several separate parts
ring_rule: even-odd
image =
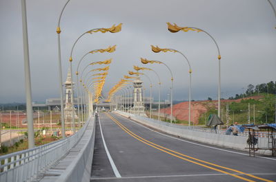
[[[59,97],[57,21],[66,0],[26,0],[32,100],[45,102]],[[273,1],[276,7],[276,1]],[[26,102],[21,1],[0,1],[0,103]],[[204,32],[171,33],[166,22],[180,27],[198,27],[211,34],[221,51],[221,98],[242,93],[248,84],[275,81],[276,17],[265,0],[71,0],[61,18],[63,81],[69,67],[70,50],[88,30],[123,23],[119,33],[84,35],[72,54],[75,72],[81,57],[93,49],[117,45],[114,53],[90,54],[80,65],[112,58],[103,93],[133,65],[150,67],[161,77],[161,98],[170,93],[170,73],[164,65],[142,65],[140,58],[165,62],[174,78],[174,100],[188,100],[188,64],[181,54],[154,53],[150,45],[177,49],[189,60],[192,73],[192,100],[217,99],[217,47]],[[102,66],[91,67],[91,69]],[[89,69],[87,69],[89,70]],[[152,80],[157,100],[157,77]],[[149,81],[141,76],[149,95]],[[74,80],[75,79],[74,75]]]

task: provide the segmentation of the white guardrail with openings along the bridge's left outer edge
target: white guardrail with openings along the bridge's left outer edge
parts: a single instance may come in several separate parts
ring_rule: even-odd
[[[90,120],[74,135],[43,146],[13,152],[0,157],[0,181],[31,181],[40,172],[61,159],[77,144]]]

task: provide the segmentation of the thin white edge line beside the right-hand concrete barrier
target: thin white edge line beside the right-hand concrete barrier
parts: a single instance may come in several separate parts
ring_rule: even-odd
[[[123,117],[123,116],[121,116],[121,115],[119,115],[119,116],[120,116],[120,117]],[[125,118],[125,117],[123,117],[123,118],[126,119],[126,120],[129,120],[128,118]],[[176,138],[176,137],[172,137],[172,136],[170,136],[170,135],[166,135],[166,134],[164,134],[164,133],[159,133],[158,131],[152,130],[152,129],[150,129],[150,128],[148,128],[148,127],[142,125],[142,124],[139,124],[138,122],[134,122],[134,121],[132,121],[132,120],[130,120],[130,122],[133,122],[133,123],[135,123],[135,124],[138,124],[139,126],[142,126],[142,127],[144,127],[144,128],[147,128],[148,130],[151,130],[151,131],[153,131],[153,132],[155,132],[155,133],[158,133],[158,134],[160,134],[160,135],[164,135],[164,136],[170,137],[170,138],[172,138],[172,139],[177,139],[177,140],[180,140],[180,141],[184,141],[184,142],[189,143],[189,144],[194,144],[194,145],[197,145],[197,146],[204,146],[204,147],[206,147],[206,148],[212,148],[212,149],[215,149],[215,150],[221,150],[221,151],[224,151],[224,152],[230,152],[230,153],[234,153],[234,154],[238,154],[238,155],[248,155],[248,154],[245,154],[245,153],[242,153],[242,152],[235,152],[235,151],[231,151],[231,150],[225,150],[225,149],[216,148],[216,147],[213,147],[213,146],[206,146],[206,145],[203,145],[203,144],[197,144],[197,143],[195,143],[195,142],[193,142],[193,141],[187,141],[187,140],[185,140],[185,139],[179,139],[179,138]],[[269,157],[262,157],[262,156],[255,156],[255,157],[259,157],[259,158],[263,158],[263,159],[269,159],[269,160],[274,160],[274,161],[276,161],[276,159],[269,158]]]

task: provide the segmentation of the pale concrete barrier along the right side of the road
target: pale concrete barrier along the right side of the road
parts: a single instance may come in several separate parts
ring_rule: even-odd
[[[139,122],[150,128],[160,130],[170,135],[175,135],[177,137],[182,137],[184,139],[199,141],[201,143],[210,144],[214,146],[248,151],[248,149],[246,149],[248,147],[248,144],[246,143],[248,137],[245,136],[224,135],[217,133],[207,133],[197,130],[190,130],[187,126],[179,126],[177,124],[161,122],[158,120],[150,119],[148,117],[141,117],[129,113],[123,113],[121,111],[116,111],[116,113],[118,113],[121,116],[128,117],[129,119],[134,120],[135,122]],[[268,138],[259,137],[258,145],[259,148],[267,148]],[[262,155],[272,155],[272,152],[270,150],[257,150],[256,153]]]

